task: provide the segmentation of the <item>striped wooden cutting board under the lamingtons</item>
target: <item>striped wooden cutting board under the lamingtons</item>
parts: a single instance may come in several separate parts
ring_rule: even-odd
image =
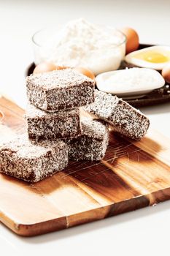
[[[24,111],[1,97],[0,140],[23,132]],[[0,174],[0,220],[35,236],[104,219],[170,198],[170,140],[150,129],[140,142],[110,132],[101,162],[70,162],[36,184]]]

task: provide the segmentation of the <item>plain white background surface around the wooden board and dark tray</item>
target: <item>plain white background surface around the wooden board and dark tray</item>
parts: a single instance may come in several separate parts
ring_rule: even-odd
[[[31,35],[48,24],[84,17],[134,27],[140,42],[170,45],[170,1],[0,1],[0,93],[26,105],[24,75],[33,59]],[[170,137],[170,102],[142,108]],[[1,200],[1,197],[0,197]],[[0,255],[169,255],[170,202],[34,238],[0,224]]]

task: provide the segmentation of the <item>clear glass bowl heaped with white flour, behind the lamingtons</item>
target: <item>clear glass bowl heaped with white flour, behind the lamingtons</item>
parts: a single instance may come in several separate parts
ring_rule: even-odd
[[[95,75],[116,70],[125,56],[125,35],[109,26],[85,19],[72,20],[59,28],[34,34],[34,62],[57,66],[85,67]]]

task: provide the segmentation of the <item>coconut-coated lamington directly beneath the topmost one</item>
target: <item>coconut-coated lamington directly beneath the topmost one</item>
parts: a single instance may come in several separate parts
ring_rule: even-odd
[[[35,140],[75,138],[81,134],[79,108],[49,113],[28,103],[25,117],[28,136]]]

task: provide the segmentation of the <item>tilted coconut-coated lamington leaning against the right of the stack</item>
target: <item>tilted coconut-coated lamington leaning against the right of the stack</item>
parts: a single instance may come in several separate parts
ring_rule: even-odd
[[[150,126],[149,119],[122,99],[95,90],[95,102],[83,108],[112,125],[115,132],[140,140]]]

